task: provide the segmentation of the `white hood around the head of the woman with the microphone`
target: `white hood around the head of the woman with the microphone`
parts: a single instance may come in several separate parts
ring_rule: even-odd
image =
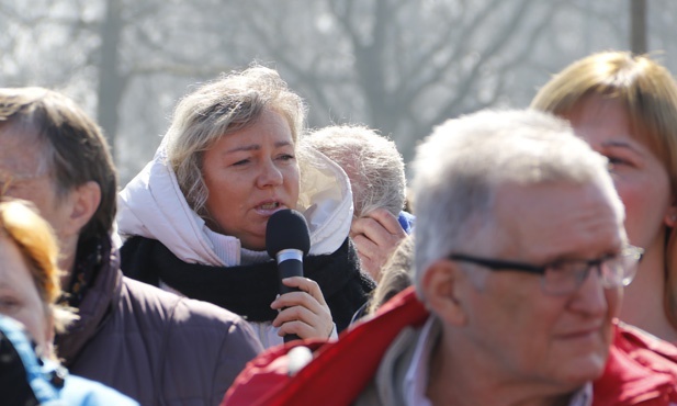
[[[352,222],[352,193],[343,170],[323,154],[305,149],[308,165],[302,166],[296,210],[311,232],[311,255],[336,251],[348,237]],[[157,239],[188,263],[215,267],[240,264],[239,239],[224,236],[225,248],[216,253],[211,232],[189,205],[177,177],[168,165],[165,143],[154,159],[119,193],[117,232]]]

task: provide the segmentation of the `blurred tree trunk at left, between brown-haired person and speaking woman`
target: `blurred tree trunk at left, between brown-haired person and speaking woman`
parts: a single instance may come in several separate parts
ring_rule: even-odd
[[[99,64],[99,88],[97,120],[111,146],[115,157],[115,137],[117,135],[120,105],[125,79],[121,75],[120,42],[124,22],[122,19],[122,0],[106,0],[106,10],[101,25],[101,59]]]

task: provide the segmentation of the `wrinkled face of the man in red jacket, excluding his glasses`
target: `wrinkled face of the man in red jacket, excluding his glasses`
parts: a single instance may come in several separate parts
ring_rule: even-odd
[[[496,201],[505,244],[498,252],[489,248],[493,258],[542,266],[597,259],[622,247],[620,215],[597,187],[509,185]],[[486,272],[486,279],[481,287],[465,285],[463,334],[477,350],[477,363],[488,365],[495,379],[532,382],[557,393],[603,372],[620,287],[603,289],[591,271],[578,291],[552,296],[543,293],[537,274],[471,271]]]

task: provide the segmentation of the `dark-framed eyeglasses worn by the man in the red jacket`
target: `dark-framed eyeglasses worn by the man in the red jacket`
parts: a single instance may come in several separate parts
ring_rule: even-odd
[[[550,295],[574,293],[588,278],[590,269],[597,269],[601,284],[606,289],[628,286],[634,279],[637,264],[644,250],[625,246],[619,253],[591,260],[560,260],[542,267],[531,263],[505,261],[500,259],[478,258],[463,253],[452,253],[453,261],[475,263],[493,271],[520,271],[541,275],[541,289]]]

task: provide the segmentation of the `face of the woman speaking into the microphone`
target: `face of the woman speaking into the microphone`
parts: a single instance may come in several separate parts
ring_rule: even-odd
[[[292,132],[282,115],[264,111],[253,124],[217,140],[204,154],[210,227],[266,249],[268,218],[296,208],[300,172]]]

